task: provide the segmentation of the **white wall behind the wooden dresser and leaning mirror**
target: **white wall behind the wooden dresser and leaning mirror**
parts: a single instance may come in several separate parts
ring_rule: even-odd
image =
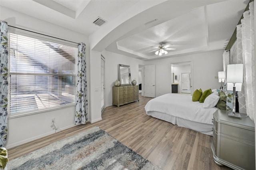
[[[106,50],[102,51],[102,55],[105,57],[105,94],[108,107],[112,105],[112,87],[118,79],[118,64],[130,65],[132,80],[138,80],[139,65],[144,65],[144,61]]]

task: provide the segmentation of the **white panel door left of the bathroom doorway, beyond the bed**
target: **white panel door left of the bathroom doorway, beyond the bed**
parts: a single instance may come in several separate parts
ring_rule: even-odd
[[[155,97],[155,65],[145,65],[145,97]]]

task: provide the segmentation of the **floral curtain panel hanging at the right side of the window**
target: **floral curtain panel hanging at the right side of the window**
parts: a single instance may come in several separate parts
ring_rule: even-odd
[[[88,113],[85,45],[78,44],[75,125],[85,124]]]

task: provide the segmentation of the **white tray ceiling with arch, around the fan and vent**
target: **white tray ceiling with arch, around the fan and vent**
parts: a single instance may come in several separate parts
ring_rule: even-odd
[[[1,8],[88,36],[93,50],[143,60],[224,49],[247,4],[248,0],[0,1]],[[107,22],[96,26],[98,17]],[[160,42],[176,50],[162,56],[149,52]]]

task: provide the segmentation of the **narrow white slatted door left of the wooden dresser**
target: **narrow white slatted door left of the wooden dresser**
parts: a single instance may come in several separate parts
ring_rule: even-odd
[[[101,56],[101,69],[100,69],[100,106],[101,113],[105,109],[105,58]]]

